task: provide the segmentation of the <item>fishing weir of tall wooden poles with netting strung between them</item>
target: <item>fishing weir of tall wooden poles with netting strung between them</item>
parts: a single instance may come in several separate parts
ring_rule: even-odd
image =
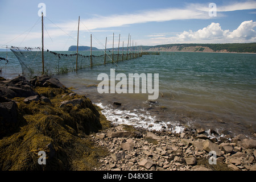
[[[105,49],[97,51],[93,55],[92,51],[92,34],[90,34],[90,53],[88,51],[79,51],[79,28],[80,16],[77,31],[77,49],[73,53],[63,53],[58,51],[50,51],[44,49],[44,16],[42,13],[42,47],[16,47],[5,46],[6,49],[11,49],[14,55],[19,60],[22,67],[22,75],[27,78],[32,78],[38,75],[58,75],[68,72],[77,72],[79,69],[92,68],[97,65],[115,64],[119,61],[137,59],[142,55],[159,55],[159,52],[143,52],[142,48],[134,45],[131,42],[131,35],[128,36],[127,47],[124,47],[124,42],[120,46],[121,34],[119,34],[118,48],[114,48],[114,33],[113,47],[107,49],[108,38],[106,37]],[[102,54],[100,53],[102,52]],[[7,56],[6,56],[7,57]],[[8,63],[7,58],[0,57],[1,60]]]

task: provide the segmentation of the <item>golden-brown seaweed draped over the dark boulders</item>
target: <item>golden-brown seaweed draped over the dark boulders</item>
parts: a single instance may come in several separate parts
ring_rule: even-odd
[[[47,76],[31,82],[23,80],[38,96],[36,100],[24,102],[28,95],[13,100],[0,97],[6,121],[23,121],[18,130],[2,133],[0,170],[90,170],[96,166],[97,158],[106,154],[88,137],[102,128],[102,115],[88,98],[69,96],[72,91],[62,84],[59,88],[52,84],[46,87],[50,79]],[[36,86],[36,81],[40,86]],[[74,99],[79,102],[72,104]],[[60,107],[63,101],[71,103]],[[6,128],[1,126],[1,130]],[[40,151],[46,153],[46,165],[38,163]]]

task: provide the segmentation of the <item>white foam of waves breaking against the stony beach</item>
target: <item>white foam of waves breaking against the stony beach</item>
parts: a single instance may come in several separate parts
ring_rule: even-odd
[[[131,125],[156,131],[162,131],[164,129],[171,131],[172,133],[181,133],[184,130],[184,126],[180,126],[177,122],[156,122],[156,117],[152,117],[152,115],[144,109],[134,109],[133,111],[129,111],[119,110],[110,105],[103,105],[102,103],[96,105],[101,107],[102,114],[104,114],[106,119],[111,121],[114,125]]]

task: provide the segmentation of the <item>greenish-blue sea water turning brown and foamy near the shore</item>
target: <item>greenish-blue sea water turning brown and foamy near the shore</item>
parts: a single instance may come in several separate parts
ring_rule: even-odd
[[[5,54],[0,52],[0,57]],[[10,62],[1,64],[0,76],[11,78],[21,68],[14,55],[8,56]],[[129,73],[158,73],[158,99],[150,102],[148,93],[99,94],[97,77],[100,73],[110,76],[110,69],[127,77]],[[116,124],[177,133],[184,127],[213,129],[220,135],[256,131],[256,54],[161,52],[54,77],[101,106],[102,113]]]

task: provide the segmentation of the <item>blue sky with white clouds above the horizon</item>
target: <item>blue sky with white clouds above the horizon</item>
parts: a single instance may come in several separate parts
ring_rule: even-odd
[[[42,4],[43,3],[43,4]],[[45,6],[42,6],[45,5]],[[0,0],[0,48],[256,42],[256,1]],[[39,15],[38,15],[39,14]]]

